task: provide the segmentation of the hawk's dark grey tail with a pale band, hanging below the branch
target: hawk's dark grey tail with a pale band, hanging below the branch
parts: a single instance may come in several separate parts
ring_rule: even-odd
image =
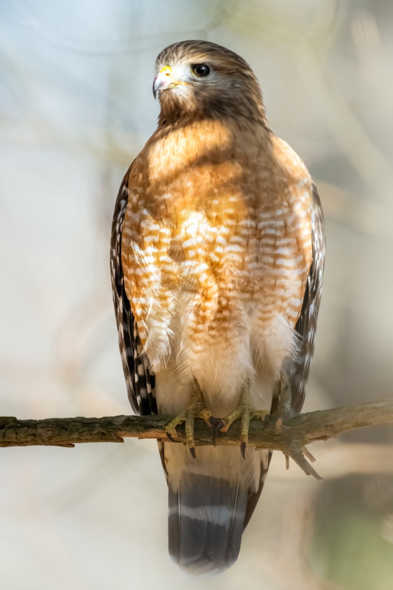
[[[255,497],[262,490],[267,465],[266,471],[260,470],[253,450],[243,460],[239,448],[229,447],[210,447],[209,454],[216,455],[213,461],[203,456],[207,447],[199,447],[190,463],[189,451],[173,444],[171,449],[174,446],[177,460],[179,451],[186,451],[187,458],[183,465],[176,461],[176,471],[180,471],[173,478],[174,463],[167,463],[169,553],[189,573],[223,571],[237,560],[242,533],[255,507]],[[229,450],[232,456],[228,456]],[[219,460],[222,454],[224,461]],[[268,461],[266,453],[263,460]]]

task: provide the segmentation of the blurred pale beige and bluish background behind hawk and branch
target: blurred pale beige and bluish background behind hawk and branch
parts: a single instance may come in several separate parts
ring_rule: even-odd
[[[127,414],[109,240],[118,187],[156,127],[174,41],[252,65],[305,160],[328,251],[305,409],[391,397],[393,4],[389,0],[0,3],[0,414]],[[389,276],[388,276],[389,275]],[[193,579],[167,556],[154,441],[0,453],[2,590],[389,590],[393,429],[275,453],[239,561]]]

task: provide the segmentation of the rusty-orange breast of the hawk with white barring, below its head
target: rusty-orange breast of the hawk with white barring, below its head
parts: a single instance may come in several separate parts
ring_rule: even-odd
[[[141,342],[163,358],[180,309],[191,340],[225,337],[250,314],[262,331],[277,314],[295,326],[311,264],[298,156],[262,127],[202,123],[157,132],[129,179],[124,282]]]

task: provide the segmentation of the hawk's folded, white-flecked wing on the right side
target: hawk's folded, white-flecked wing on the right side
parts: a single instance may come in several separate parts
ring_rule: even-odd
[[[307,277],[302,311],[295,330],[301,337],[300,355],[295,371],[289,375],[292,408],[299,412],[306,393],[306,384],[314,353],[316,321],[322,293],[322,275],[325,265],[325,222],[316,186],[312,185],[311,228],[312,263]]]

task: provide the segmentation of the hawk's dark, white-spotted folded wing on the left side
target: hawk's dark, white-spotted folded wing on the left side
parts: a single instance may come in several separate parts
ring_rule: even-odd
[[[132,166],[132,164],[131,164]],[[118,192],[113,215],[111,236],[111,277],[119,348],[127,383],[128,399],[136,414],[157,414],[154,392],[154,373],[149,369],[147,356],[142,352],[137,324],[124,289],[121,266],[121,232],[128,204],[128,168]]]

